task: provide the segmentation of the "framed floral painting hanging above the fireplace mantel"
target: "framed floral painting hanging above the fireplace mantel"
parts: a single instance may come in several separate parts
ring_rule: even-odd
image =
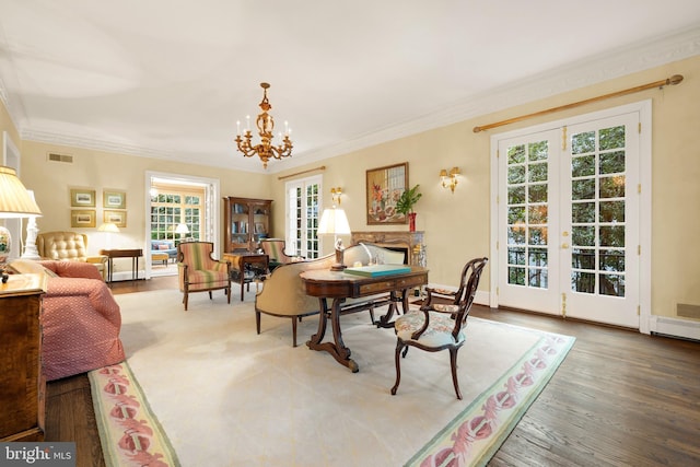
[[[408,162],[368,171],[368,224],[405,224],[396,201],[408,186]]]

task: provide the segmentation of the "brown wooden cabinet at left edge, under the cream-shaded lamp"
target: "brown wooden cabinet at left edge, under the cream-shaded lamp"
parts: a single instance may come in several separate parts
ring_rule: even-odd
[[[42,375],[44,275],[10,275],[0,284],[0,442],[44,441]]]

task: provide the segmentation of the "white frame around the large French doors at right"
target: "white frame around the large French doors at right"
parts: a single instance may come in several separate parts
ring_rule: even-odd
[[[640,128],[640,219],[639,219],[639,233],[640,233],[640,270],[639,270],[639,314],[640,314],[640,332],[651,332],[651,290],[652,290],[652,102],[651,100],[641,101],[632,104],[627,104],[618,107],[612,107],[604,110],[593,112],[590,114],[582,114],[565,119],[550,121],[547,124],[540,124],[533,127],[522,128],[503,133],[497,133],[491,136],[491,194],[490,194],[490,257],[492,260],[490,264],[490,296],[489,306],[498,308],[499,295],[499,140],[510,139],[521,135],[528,135],[532,132],[547,131],[555,128],[575,125],[588,120],[612,117],[616,115],[639,113],[641,128]]]

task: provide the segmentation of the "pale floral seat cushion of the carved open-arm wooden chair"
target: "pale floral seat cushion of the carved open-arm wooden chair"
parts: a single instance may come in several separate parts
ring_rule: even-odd
[[[450,306],[450,305],[447,305]],[[396,318],[394,329],[396,336],[405,342],[413,341],[411,335],[423,326],[425,315],[420,311],[411,311]],[[428,329],[420,336],[417,342],[428,347],[442,347],[446,345],[457,345],[464,342],[464,328],[457,335],[457,339],[452,337],[452,330],[455,327],[455,320],[450,315],[440,313],[430,313],[430,325]]]

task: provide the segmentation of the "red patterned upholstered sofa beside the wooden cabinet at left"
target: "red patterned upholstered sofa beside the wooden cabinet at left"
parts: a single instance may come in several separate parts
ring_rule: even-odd
[[[47,381],[125,360],[119,305],[93,265],[16,259],[10,266],[19,273],[48,276],[42,317]]]

